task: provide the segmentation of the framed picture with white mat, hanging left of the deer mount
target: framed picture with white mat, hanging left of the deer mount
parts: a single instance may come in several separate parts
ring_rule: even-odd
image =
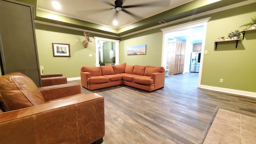
[[[54,57],[70,57],[69,44],[52,43],[52,52]]]

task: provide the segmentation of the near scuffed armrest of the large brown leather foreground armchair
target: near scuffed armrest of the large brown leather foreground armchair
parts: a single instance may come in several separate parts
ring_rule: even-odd
[[[104,98],[95,93],[0,114],[0,144],[91,144],[104,134]]]

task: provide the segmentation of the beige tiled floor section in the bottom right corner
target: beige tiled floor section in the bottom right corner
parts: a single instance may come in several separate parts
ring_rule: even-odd
[[[256,118],[216,108],[198,144],[256,144]]]

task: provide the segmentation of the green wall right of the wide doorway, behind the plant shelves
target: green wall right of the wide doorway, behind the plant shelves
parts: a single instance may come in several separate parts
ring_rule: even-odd
[[[247,32],[245,39],[238,42],[218,43],[214,48],[214,40],[227,37],[228,32],[242,30],[242,24],[256,16],[256,3],[239,8],[218,12],[211,15],[208,22],[202,69],[202,85],[216,86],[256,92],[256,30]],[[223,83],[220,83],[223,78]]]

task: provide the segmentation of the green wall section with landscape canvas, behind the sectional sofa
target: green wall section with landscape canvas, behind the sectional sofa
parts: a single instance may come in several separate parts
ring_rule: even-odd
[[[146,44],[146,54],[127,55],[127,47]],[[120,64],[161,66],[162,32],[123,40],[119,44]]]

